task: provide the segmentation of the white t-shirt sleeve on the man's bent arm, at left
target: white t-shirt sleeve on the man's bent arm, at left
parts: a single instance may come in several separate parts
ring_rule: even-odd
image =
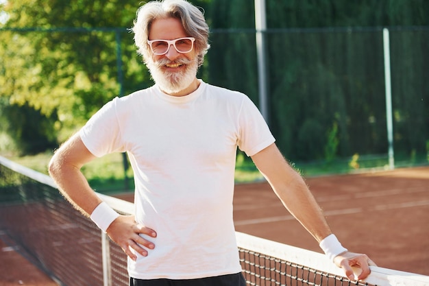
[[[108,102],[79,130],[79,136],[84,145],[97,157],[125,151],[117,119],[117,100],[118,98],[115,98]]]

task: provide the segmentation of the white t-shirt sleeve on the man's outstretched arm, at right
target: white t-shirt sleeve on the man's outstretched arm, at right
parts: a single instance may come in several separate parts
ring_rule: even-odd
[[[243,99],[238,124],[238,148],[247,156],[253,156],[275,142],[264,117],[247,96]]]

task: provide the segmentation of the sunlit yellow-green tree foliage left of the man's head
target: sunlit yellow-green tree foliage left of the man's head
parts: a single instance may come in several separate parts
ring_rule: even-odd
[[[120,95],[118,49],[127,69],[124,92],[148,86],[151,80],[136,55],[132,35],[125,30],[132,26],[135,3],[119,0],[39,2],[16,0],[5,6],[5,12],[10,15],[6,27],[24,29],[0,32],[0,57],[4,63],[0,69],[0,96],[7,99],[10,106],[27,106],[46,118],[56,119],[51,122],[54,129],[40,132],[49,141],[52,134],[63,141],[103,104]],[[38,31],[25,32],[27,27],[37,27]],[[61,27],[67,28],[64,32],[50,30]],[[88,31],[70,27],[84,27]],[[94,27],[106,31],[90,29]],[[37,121],[38,117],[30,120]],[[41,123],[39,128],[43,128]]]

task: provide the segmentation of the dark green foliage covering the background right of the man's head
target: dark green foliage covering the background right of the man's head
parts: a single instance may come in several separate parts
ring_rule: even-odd
[[[376,27],[429,25],[429,2],[266,4],[269,122],[286,157],[302,162],[386,153],[383,44]],[[208,56],[210,82],[243,91],[258,104],[254,34],[247,30],[254,28],[252,9],[249,1],[213,1]],[[417,157],[429,134],[429,86],[421,76],[429,60],[427,33],[391,29],[394,108],[402,119],[395,121],[395,148],[415,150]],[[336,137],[327,139],[334,131]]]

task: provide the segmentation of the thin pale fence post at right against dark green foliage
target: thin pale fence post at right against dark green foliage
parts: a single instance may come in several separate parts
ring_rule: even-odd
[[[389,29],[383,29],[383,50],[384,50],[384,86],[386,91],[386,121],[387,121],[387,141],[389,143],[389,169],[395,169],[395,156],[393,153],[393,112],[392,112],[392,86],[390,67],[390,39]]]

